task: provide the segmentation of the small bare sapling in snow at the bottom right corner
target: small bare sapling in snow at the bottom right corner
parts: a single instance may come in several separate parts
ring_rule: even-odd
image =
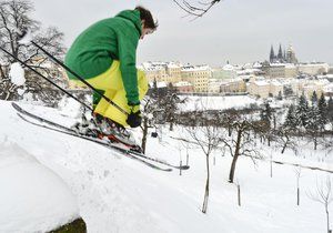
[[[323,184],[321,186],[316,185],[316,194],[313,193],[309,194],[309,196],[312,200],[322,203],[325,207],[327,233],[332,233],[332,231],[330,230],[330,211],[329,211],[329,205],[333,200],[331,186],[332,186],[331,179],[330,176],[327,176],[325,186]]]

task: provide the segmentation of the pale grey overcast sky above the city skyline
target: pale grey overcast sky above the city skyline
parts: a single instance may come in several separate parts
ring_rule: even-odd
[[[137,4],[150,9],[160,26],[140,41],[139,63],[246,63],[268,59],[271,44],[278,52],[280,43],[285,48],[292,44],[300,61],[333,63],[333,0],[224,0],[194,21],[183,18],[185,13],[172,0],[32,2],[33,17],[64,32],[67,47],[98,20]]]

